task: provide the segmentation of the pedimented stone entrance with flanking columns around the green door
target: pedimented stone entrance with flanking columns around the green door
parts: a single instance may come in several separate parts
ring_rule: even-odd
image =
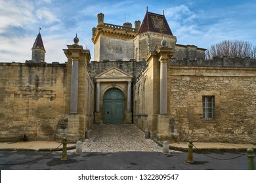
[[[96,76],[96,124],[129,124],[133,76],[111,67]]]

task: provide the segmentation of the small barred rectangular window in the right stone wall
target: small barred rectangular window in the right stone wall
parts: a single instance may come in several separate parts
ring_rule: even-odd
[[[203,120],[214,120],[215,97],[203,96]]]

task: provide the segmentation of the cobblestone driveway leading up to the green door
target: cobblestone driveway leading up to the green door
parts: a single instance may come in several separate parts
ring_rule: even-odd
[[[93,125],[90,138],[83,141],[83,152],[127,151],[161,152],[162,148],[132,124]]]

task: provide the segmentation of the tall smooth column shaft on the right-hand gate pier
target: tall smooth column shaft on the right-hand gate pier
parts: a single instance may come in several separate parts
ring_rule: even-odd
[[[160,59],[160,114],[167,114],[167,60]]]

